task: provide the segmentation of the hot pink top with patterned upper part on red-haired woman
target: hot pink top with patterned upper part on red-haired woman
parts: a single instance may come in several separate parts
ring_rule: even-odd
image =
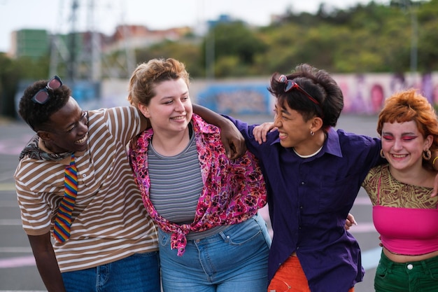
[[[388,165],[373,167],[362,186],[373,202],[374,227],[388,251],[407,256],[438,251],[438,198],[430,197],[432,188],[398,181]]]

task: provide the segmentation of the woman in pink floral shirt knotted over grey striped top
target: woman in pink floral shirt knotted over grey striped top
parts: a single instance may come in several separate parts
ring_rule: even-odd
[[[164,292],[266,292],[271,238],[261,169],[248,151],[229,160],[220,130],[193,113],[189,74],[174,59],[140,64],[129,102],[151,128],[129,159],[158,227]]]

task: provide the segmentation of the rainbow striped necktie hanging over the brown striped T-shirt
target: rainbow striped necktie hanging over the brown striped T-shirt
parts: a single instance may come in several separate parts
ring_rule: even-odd
[[[65,242],[70,237],[71,212],[78,195],[78,169],[76,169],[74,155],[71,154],[70,165],[65,168],[64,197],[55,218],[53,237],[58,242]]]

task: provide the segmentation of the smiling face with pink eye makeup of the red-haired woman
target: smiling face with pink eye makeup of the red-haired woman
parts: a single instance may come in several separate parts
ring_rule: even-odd
[[[432,145],[432,136],[424,139],[414,120],[383,123],[381,137],[385,158],[393,169],[400,172],[420,169],[423,151],[427,151]]]

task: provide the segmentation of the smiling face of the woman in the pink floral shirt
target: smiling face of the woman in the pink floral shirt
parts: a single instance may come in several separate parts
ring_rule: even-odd
[[[141,113],[149,118],[154,132],[181,134],[193,114],[187,83],[183,78],[167,80],[155,85],[154,90],[156,94],[148,106],[139,104]]]

